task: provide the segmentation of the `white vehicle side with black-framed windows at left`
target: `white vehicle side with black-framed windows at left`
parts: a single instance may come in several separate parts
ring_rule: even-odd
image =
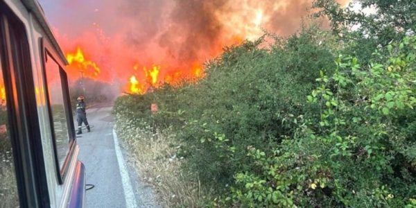
[[[83,207],[85,168],[78,161],[79,147],[64,72],[67,60],[36,0],[0,0],[0,7],[3,71],[21,73],[21,77],[10,76],[13,80],[8,81],[8,72],[3,72],[5,83],[10,82],[10,87],[6,85],[8,115],[12,117],[9,123],[10,126],[13,122],[20,123],[16,130],[10,130],[12,139],[16,140],[12,147],[19,204],[21,207]],[[17,32],[8,31],[13,27],[18,27]],[[18,49],[13,48],[13,42],[19,43]],[[13,55],[17,54],[13,50],[21,50],[19,53],[23,55],[17,55],[16,60],[23,67],[12,64],[15,63]],[[49,69],[48,66],[56,67]],[[24,96],[15,96],[13,90],[18,95],[24,92]]]

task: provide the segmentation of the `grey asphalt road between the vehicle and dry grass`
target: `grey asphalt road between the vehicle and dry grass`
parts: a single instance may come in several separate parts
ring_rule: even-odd
[[[150,187],[142,184],[139,175],[124,162],[126,155],[113,136],[111,110],[109,106],[88,109],[92,130],[83,129],[77,138],[87,184],[95,186],[86,193],[85,207],[157,207]]]

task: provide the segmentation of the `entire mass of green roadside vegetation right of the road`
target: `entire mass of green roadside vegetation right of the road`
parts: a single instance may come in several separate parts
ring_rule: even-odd
[[[317,0],[331,31],[265,34],[196,84],[118,98],[132,160],[175,155],[199,202],[175,207],[416,207],[416,2],[360,2],[374,14]]]

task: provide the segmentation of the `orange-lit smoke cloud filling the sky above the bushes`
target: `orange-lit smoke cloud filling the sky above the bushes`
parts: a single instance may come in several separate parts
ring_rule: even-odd
[[[41,0],[65,53],[83,49],[101,69],[98,80],[194,76],[224,46],[255,40],[263,30],[288,36],[311,14],[313,0]],[[343,0],[345,1],[345,0]],[[345,3],[345,2],[343,2]],[[69,78],[79,70],[69,67]],[[161,82],[162,82],[161,81]]]

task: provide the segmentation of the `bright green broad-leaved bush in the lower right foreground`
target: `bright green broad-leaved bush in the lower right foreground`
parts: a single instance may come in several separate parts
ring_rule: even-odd
[[[307,96],[320,120],[249,156],[225,203],[248,207],[411,207],[416,196],[416,36],[388,46],[385,63],[338,58]]]

